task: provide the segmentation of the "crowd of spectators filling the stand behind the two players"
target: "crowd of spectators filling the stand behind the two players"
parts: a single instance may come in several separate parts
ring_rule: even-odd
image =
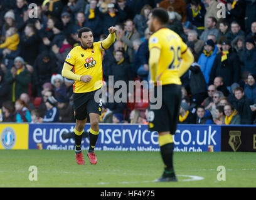
[[[100,123],[147,124],[141,83],[150,79],[147,20],[156,7],[168,10],[167,27],[195,56],[181,77],[179,123],[256,124],[255,0],[1,0],[0,122],[75,122],[65,58],[80,45],[81,27],[102,41],[115,26],[116,41],[102,54],[107,99],[118,93],[112,81],[135,81],[136,89],[127,103],[104,101]]]

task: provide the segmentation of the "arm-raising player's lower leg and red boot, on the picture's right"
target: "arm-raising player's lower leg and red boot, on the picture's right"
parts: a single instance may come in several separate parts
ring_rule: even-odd
[[[90,116],[90,131],[89,131],[90,147],[89,147],[87,156],[91,164],[97,164],[97,158],[96,158],[96,155],[94,154],[94,148],[100,133],[100,129],[99,129],[100,116],[97,113],[90,113],[89,116]]]

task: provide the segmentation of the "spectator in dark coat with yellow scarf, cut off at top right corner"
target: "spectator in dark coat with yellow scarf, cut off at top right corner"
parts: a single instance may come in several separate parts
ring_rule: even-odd
[[[245,29],[245,1],[244,0],[233,0],[227,1],[226,17],[228,23],[237,21],[241,28]]]

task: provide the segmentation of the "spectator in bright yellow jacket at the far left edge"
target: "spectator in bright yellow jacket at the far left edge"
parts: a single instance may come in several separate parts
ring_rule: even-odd
[[[6,31],[6,40],[0,44],[0,58],[6,54],[11,53],[11,51],[16,51],[19,45],[19,35],[16,32],[15,27],[10,27]]]

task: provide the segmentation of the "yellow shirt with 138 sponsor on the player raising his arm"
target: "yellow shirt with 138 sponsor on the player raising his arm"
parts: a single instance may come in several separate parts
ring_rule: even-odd
[[[90,75],[90,83],[75,81],[73,93],[88,93],[101,88],[103,84],[101,41],[93,42],[93,48],[84,49],[82,46],[74,47],[68,54],[65,63],[73,67],[73,73],[78,75]]]

